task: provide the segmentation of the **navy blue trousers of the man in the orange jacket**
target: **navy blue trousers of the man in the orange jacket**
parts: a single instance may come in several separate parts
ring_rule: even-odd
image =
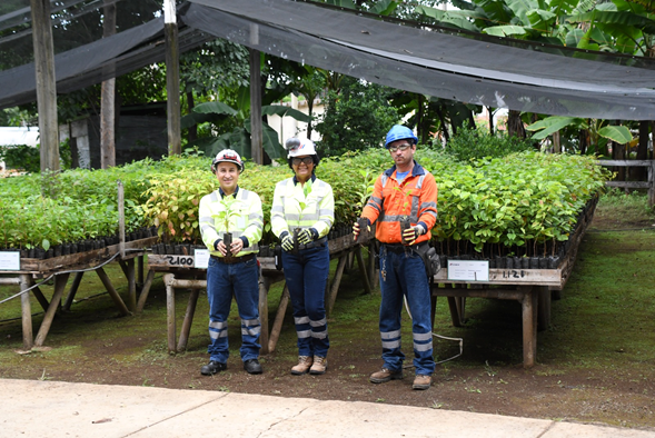
[[[397,371],[403,368],[405,355],[400,351],[400,313],[403,298],[411,313],[414,340],[414,366],[417,375],[435,371],[433,358],[433,327],[430,289],[420,256],[413,250],[405,252],[380,249],[380,337],[383,340],[384,367]]]

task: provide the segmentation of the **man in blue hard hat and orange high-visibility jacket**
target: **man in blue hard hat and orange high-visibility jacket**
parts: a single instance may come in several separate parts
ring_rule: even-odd
[[[383,341],[383,368],[369,380],[384,384],[403,379],[400,351],[400,315],[407,299],[414,338],[414,389],[429,389],[435,371],[430,315],[430,289],[421,253],[427,251],[430,229],[437,221],[437,183],[435,177],[414,160],[418,138],[404,126],[396,125],[387,133],[385,147],[394,166],[375,181],[373,195],[361,218],[368,225],[377,221],[376,238],[380,241],[379,329]],[[361,230],[353,226],[355,238]]]

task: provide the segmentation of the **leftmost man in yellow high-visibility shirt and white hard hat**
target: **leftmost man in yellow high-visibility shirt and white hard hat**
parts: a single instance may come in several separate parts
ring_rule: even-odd
[[[210,251],[207,267],[209,300],[209,364],[200,372],[211,376],[227,369],[228,316],[232,296],[241,319],[241,360],[244,369],[261,374],[259,364],[259,262],[257,252],[264,228],[261,199],[239,187],[244,161],[230,149],[218,152],[211,171],[219,189],[200,200],[199,222],[202,241]],[[226,245],[226,239],[231,243]]]

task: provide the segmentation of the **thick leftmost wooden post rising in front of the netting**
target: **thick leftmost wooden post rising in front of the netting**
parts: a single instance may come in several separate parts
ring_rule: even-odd
[[[37,79],[37,107],[41,139],[41,171],[59,171],[59,126],[57,123],[57,81],[50,21],[50,1],[30,0],[32,41]]]

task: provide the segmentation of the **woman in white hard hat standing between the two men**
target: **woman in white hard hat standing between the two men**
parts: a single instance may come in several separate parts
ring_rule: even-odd
[[[292,375],[322,375],[329,339],[325,288],[330,256],[327,235],[335,220],[333,188],[316,177],[318,155],[311,140],[285,142],[294,177],[277,183],[270,222],[280,239],[282,267],[294,306],[298,365]]]

